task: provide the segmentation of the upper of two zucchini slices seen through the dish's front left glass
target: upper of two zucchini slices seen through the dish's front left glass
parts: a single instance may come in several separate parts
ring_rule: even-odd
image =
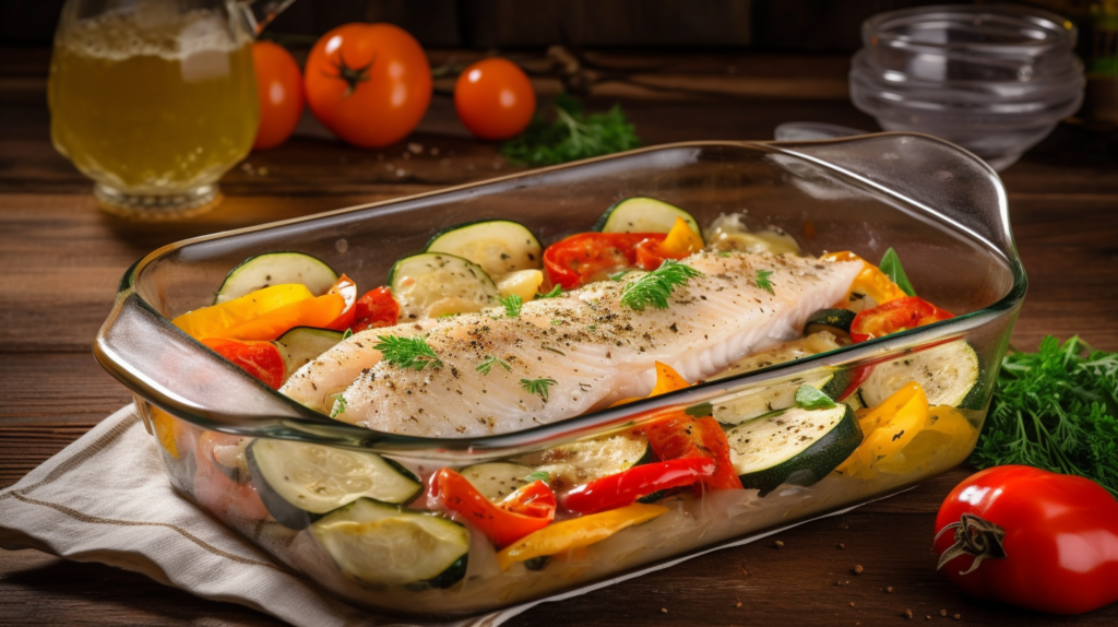
[[[264,506],[291,529],[358,498],[407,503],[423,492],[410,471],[375,453],[262,438],[247,457]]]

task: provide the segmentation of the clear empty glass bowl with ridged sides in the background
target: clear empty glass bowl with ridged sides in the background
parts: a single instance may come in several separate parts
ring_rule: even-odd
[[[885,130],[944,137],[1002,170],[1082,104],[1076,35],[1024,7],[880,13],[862,26],[851,98]]]

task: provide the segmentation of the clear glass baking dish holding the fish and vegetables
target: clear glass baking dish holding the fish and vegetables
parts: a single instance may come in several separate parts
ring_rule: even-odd
[[[421,250],[444,227],[509,218],[548,244],[586,230],[605,208],[633,196],[683,207],[704,225],[720,213],[745,211],[750,226],[779,227],[816,255],[853,250],[878,259],[893,247],[920,295],[956,317],[528,430],[461,439],[377,433],[331,420],[259,384],[169,322],[209,304],[228,269],[253,255],[309,253],[358,285],[381,285],[397,258]],[[163,247],[125,273],[95,353],[135,393],[170,481],[184,495],[350,601],[396,614],[447,617],[538,599],[697,553],[898,492],[959,464],[982,428],[1025,288],[999,179],[953,144],[901,133],[802,143],[695,142]],[[912,440],[920,443],[920,450],[902,449],[903,463],[893,456],[888,466],[873,463],[856,473],[835,472],[814,485],[781,485],[764,496],[756,490],[678,494],[660,503],[667,510],[660,517],[529,564],[536,570],[525,563],[502,570],[493,547],[472,530],[465,574],[445,588],[361,585],[347,577],[306,529],[276,522],[253,482],[229,476],[206,448],[215,438],[229,436],[278,438],[376,452],[426,477],[440,467],[523,459],[559,445],[632,430],[667,410],[732,410],[751,395],[956,341],[965,341],[978,355],[979,393],[966,409],[954,410],[965,419],[964,428],[945,435],[929,420]]]

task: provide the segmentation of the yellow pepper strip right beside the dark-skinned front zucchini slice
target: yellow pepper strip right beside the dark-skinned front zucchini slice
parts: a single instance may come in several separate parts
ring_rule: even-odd
[[[850,476],[865,476],[877,463],[908,446],[928,424],[928,397],[916,381],[906,383],[860,420],[865,439],[835,468]]]

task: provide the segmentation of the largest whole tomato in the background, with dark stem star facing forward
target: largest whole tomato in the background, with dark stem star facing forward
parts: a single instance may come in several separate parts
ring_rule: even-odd
[[[306,59],[306,99],[342,140],[380,148],[419,124],[430,104],[430,65],[419,42],[390,23],[348,23]]]

